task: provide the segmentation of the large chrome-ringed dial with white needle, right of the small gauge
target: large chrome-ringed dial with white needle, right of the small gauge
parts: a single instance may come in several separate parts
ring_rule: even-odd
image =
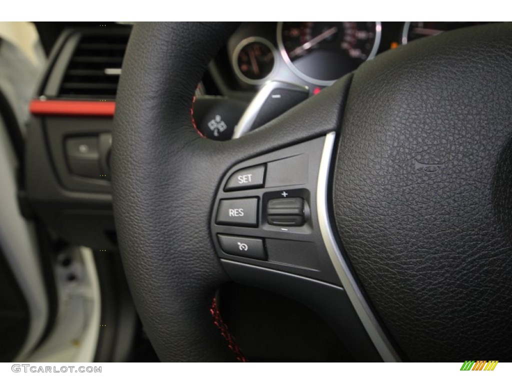
[[[377,53],[380,22],[280,22],[283,59],[302,79],[327,86]]]

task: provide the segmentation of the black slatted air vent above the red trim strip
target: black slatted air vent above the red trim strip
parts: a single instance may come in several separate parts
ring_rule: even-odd
[[[68,99],[114,100],[129,34],[81,36],[60,84]]]

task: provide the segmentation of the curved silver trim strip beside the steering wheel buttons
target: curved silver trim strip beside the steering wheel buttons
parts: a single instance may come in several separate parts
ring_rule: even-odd
[[[339,280],[343,284],[343,288],[354,307],[362,325],[365,327],[375,348],[382,357],[383,361],[396,362],[401,361],[400,357],[394,350],[389,339],[380,327],[372,310],[365,300],[364,295],[360,291],[357,283],[352,275],[349,266],[342,251],[338,248],[334,234],[329,222],[328,211],[328,182],[329,169],[332,159],[332,151],[334,148],[334,139],[336,134],[331,132],[326,135],[324,150],[322,152],[322,160],[318,170],[318,184],[316,188],[316,209],[318,211],[318,222],[325,247],[329,253],[331,262],[336,270]]]

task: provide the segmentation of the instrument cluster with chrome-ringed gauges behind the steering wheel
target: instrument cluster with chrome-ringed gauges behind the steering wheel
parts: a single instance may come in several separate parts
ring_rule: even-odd
[[[213,64],[221,88],[255,92],[272,80],[317,93],[377,54],[482,22],[244,23]]]

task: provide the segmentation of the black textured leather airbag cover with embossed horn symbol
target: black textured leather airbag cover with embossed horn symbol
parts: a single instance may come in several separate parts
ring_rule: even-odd
[[[421,39],[354,75],[336,223],[413,361],[512,359],[511,142],[509,24]]]

